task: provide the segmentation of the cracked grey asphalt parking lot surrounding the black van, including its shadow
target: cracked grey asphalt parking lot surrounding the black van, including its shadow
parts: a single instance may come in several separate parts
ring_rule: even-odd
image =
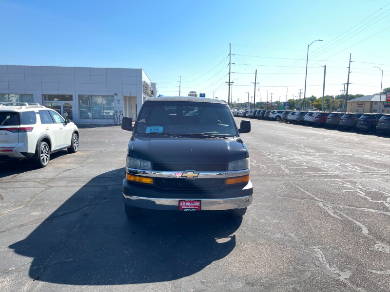
[[[242,219],[127,219],[120,126],[42,169],[0,162],[0,291],[390,291],[390,138],[251,123]]]

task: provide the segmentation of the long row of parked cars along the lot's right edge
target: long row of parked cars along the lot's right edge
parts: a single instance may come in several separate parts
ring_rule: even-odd
[[[282,121],[313,127],[390,134],[390,114],[307,110],[233,110],[238,117]]]

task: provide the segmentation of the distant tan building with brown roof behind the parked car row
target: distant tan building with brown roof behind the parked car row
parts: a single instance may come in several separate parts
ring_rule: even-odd
[[[388,113],[386,95],[366,95],[347,101],[347,112]]]

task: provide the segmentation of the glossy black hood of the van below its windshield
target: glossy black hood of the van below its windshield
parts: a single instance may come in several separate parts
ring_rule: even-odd
[[[153,162],[228,162],[245,159],[241,139],[133,138],[128,155]]]

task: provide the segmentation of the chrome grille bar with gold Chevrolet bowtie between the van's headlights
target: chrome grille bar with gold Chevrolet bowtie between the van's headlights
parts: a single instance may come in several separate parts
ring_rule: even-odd
[[[191,171],[191,169],[188,169],[187,171]],[[126,173],[129,174],[135,174],[137,176],[145,176],[149,178],[180,178],[182,173],[185,173],[185,171],[154,171],[154,170],[142,170],[142,169],[135,169],[130,168],[126,166]],[[205,171],[199,171],[195,172],[199,173],[199,175],[194,178],[196,179],[228,179],[228,178],[234,178],[234,177],[241,177],[245,175],[249,175],[249,169],[244,170],[237,170],[237,171],[224,171],[224,172],[205,172]],[[188,179],[188,180],[194,180],[194,179]]]

